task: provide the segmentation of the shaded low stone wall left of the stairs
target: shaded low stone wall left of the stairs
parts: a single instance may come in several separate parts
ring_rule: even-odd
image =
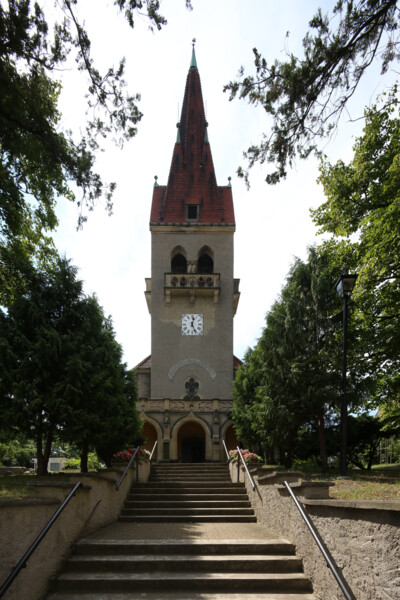
[[[139,480],[147,481],[148,462],[139,465]],[[4,600],[39,600],[46,593],[48,582],[62,567],[73,544],[82,536],[118,519],[132,483],[131,469],[117,492],[115,483],[123,467],[101,473],[71,473],[54,476],[54,482],[33,485],[34,498],[0,500],[0,586],[18,564],[74,484],[82,481],[49,533],[43,539],[18,577],[4,595]]]

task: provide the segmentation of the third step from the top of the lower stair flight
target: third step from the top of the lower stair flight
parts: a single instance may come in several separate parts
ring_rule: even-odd
[[[236,592],[249,591],[311,591],[310,580],[303,573],[199,573],[87,571],[85,573],[64,572],[53,583],[54,591],[65,592],[137,592],[177,591]]]

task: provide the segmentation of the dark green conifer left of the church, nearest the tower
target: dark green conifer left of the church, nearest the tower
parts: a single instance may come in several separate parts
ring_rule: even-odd
[[[82,323],[72,340],[74,352],[65,364],[70,385],[60,435],[81,453],[81,471],[87,472],[91,449],[130,445],[142,424],[137,410],[136,378],[122,363],[111,320],[104,317],[95,297],[82,306]]]

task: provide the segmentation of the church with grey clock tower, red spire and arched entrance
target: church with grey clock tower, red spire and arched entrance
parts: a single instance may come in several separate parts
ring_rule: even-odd
[[[232,187],[217,185],[193,46],[167,185],[150,212],[151,356],[136,366],[146,448],[157,460],[220,461],[237,445],[230,412],[233,318]]]

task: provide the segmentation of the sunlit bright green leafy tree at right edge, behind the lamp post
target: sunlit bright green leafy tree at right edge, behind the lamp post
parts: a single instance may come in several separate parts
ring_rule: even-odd
[[[327,197],[313,219],[336,238],[352,236],[358,272],[353,293],[360,314],[363,363],[377,383],[378,404],[400,396],[400,118],[387,102],[366,111],[363,135],[349,164],[325,161]],[[396,116],[397,115],[397,116]],[[361,366],[360,366],[361,368]]]

